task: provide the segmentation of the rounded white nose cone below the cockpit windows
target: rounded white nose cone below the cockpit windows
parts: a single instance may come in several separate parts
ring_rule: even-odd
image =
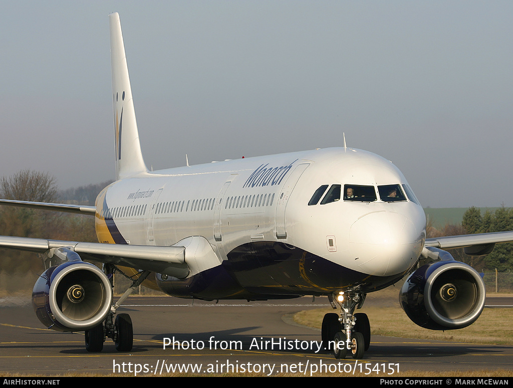
[[[390,276],[403,273],[417,262],[423,238],[423,228],[410,218],[378,211],[351,225],[349,247],[363,273]]]

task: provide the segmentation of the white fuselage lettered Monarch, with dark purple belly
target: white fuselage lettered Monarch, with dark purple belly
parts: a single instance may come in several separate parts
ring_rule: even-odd
[[[376,194],[346,200],[343,192],[309,205],[323,185],[339,191],[372,186]],[[254,294],[368,292],[404,276],[425,239],[425,215],[415,196],[387,202],[379,195],[386,185],[409,189],[391,162],[350,148],[145,172],[98,196],[96,230],[100,242],[132,245],[181,245],[204,237],[219,260],[188,263],[188,279],[173,281],[189,289],[194,277],[219,277],[219,267],[232,288]]]

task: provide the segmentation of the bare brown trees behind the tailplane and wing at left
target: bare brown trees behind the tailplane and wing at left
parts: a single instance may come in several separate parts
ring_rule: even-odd
[[[109,183],[60,190],[50,174],[26,169],[0,180],[0,198],[94,205],[98,193]],[[0,206],[0,235],[97,242],[93,216],[14,206]],[[27,280],[30,283],[44,269],[42,259],[33,253],[3,250],[0,253],[0,283],[3,283],[0,288],[16,288],[25,278],[30,278]]]

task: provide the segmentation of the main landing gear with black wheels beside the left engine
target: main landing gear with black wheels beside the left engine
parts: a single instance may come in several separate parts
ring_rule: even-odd
[[[106,266],[105,271],[112,275],[114,267]],[[110,313],[105,322],[86,330],[85,342],[88,352],[101,352],[105,339],[112,338],[119,352],[130,352],[133,346],[132,319],[128,314],[116,315],[117,308],[123,303],[133,291],[148,277],[150,271],[142,271],[140,276],[133,281],[130,288],[112,305]],[[123,274],[124,275],[124,274]],[[125,275],[126,276],[126,275]],[[114,318],[115,317],[115,318]]]

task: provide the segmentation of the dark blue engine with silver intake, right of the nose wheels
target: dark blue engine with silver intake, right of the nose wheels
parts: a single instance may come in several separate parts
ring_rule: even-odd
[[[459,261],[439,261],[417,269],[406,280],[399,301],[416,324],[432,330],[466,327],[481,315],[485,286],[478,272]]]

